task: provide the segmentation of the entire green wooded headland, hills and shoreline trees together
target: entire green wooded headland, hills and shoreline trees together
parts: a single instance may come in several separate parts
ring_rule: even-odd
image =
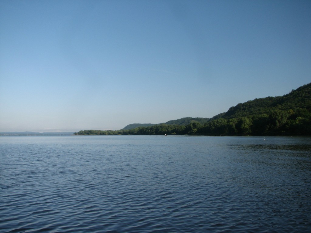
[[[81,130],[76,135],[311,135],[311,83],[289,94],[258,98],[208,118],[185,117],[147,127]]]

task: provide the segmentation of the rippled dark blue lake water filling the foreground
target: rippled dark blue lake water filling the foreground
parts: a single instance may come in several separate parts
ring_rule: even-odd
[[[0,232],[311,232],[310,137],[1,136]]]

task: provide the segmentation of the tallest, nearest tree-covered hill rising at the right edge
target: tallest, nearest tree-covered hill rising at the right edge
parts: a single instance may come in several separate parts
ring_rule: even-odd
[[[239,103],[209,121],[201,133],[220,135],[310,135],[311,83],[289,94]]]

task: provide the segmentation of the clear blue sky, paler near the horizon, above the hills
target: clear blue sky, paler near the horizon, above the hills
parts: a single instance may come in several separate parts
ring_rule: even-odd
[[[0,1],[0,132],[213,117],[311,82],[311,1]]]

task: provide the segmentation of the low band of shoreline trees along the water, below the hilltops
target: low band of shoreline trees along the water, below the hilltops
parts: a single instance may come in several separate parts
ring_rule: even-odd
[[[252,117],[217,118],[201,124],[159,124],[129,130],[81,130],[75,135],[311,135],[311,114],[302,108]]]

